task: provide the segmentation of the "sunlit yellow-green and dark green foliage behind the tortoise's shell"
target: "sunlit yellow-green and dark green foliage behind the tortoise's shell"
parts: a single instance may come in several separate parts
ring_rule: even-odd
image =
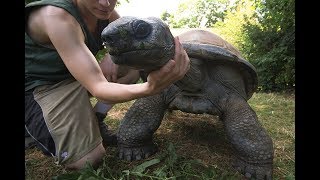
[[[294,1],[239,0],[215,32],[235,45],[257,69],[259,89],[282,91],[295,84]]]

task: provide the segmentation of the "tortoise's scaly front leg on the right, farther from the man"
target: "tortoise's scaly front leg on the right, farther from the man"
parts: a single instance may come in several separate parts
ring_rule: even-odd
[[[248,178],[272,179],[273,143],[247,101],[231,95],[222,121],[236,151],[236,169]]]

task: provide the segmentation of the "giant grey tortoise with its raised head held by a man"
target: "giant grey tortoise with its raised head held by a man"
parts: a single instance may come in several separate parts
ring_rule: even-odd
[[[125,16],[101,34],[114,63],[145,74],[174,56],[174,37],[159,18]],[[271,179],[272,139],[248,104],[257,88],[255,68],[218,35],[190,30],[179,35],[191,67],[181,80],[157,95],[137,99],[118,129],[119,157],[140,160],[154,154],[153,134],[169,110],[219,116],[246,177]],[[214,137],[213,137],[214,138]]]

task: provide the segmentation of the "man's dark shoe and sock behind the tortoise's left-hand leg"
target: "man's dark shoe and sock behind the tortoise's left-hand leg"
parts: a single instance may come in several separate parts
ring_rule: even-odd
[[[109,129],[106,123],[104,123],[104,118],[106,117],[102,113],[96,112],[96,116],[98,118],[98,124],[100,129],[100,134],[103,140],[103,146],[116,146],[117,145],[117,135],[115,133],[112,133]]]

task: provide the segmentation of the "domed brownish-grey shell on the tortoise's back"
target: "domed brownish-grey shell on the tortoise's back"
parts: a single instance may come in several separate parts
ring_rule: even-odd
[[[189,30],[178,36],[189,57],[238,68],[243,76],[247,99],[251,98],[258,85],[256,69],[242,57],[238,49],[206,30]]]

